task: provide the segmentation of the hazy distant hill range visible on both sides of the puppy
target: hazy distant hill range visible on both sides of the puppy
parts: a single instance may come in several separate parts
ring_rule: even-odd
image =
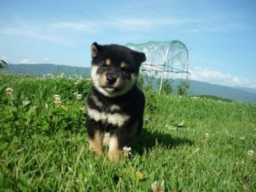
[[[34,75],[36,77],[42,77],[48,73],[58,75],[65,73],[65,75],[82,75],[84,77],[90,76],[90,68],[74,67],[69,65],[53,65],[53,64],[9,64],[9,68],[4,70],[5,73],[12,74],[24,74]],[[174,80],[172,86],[174,91],[182,80]],[[156,89],[155,79],[153,81],[153,87]],[[199,82],[196,80],[190,80],[190,88],[188,95],[211,95],[215,97],[221,97],[223,99],[235,100],[240,102],[256,103],[256,90],[246,87],[228,87],[222,85],[213,85],[208,82]]]

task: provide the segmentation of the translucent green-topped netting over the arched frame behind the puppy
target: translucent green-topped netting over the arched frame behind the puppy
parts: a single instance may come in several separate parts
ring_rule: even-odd
[[[168,79],[173,78],[171,73],[188,73],[188,49],[181,41],[149,41],[126,46],[146,54],[142,70],[151,75]]]

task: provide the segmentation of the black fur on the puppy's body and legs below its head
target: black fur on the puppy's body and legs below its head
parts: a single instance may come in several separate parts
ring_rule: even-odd
[[[100,92],[95,90],[92,87],[90,91],[90,95],[96,96],[100,102],[103,102],[105,105],[103,107],[98,107],[94,100],[89,96],[87,100],[87,105],[90,106],[92,109],[98,110],[99,112],[107,112],[110,114],[119,113],[119,114],[128,114],[130,119],[127,122],[124,122],[122,127],[118,127],[117,125],[109,124],[108,122],[95,122],[94,119],[91,119],[87,116],[87,133],[90,138],[93,139],[95,131],[101,130],[102,132],[110,132],[110,137],[112,134],[117,134],[119,138],[119,149],[122,149],[126,146],[129,134],[130,134],[130,127],[137,121],[137,134],[135,135],[138,137],[142,132],[142,123],[143,123],[143,112],[144,112],[144,105],[145,105],[145,98],[141,90],[137,86],[134,86],[132,90],[130,90],[126,95],[122,95],[119,97],[106,97],[102,95]],[[109,106],[118,105],[120,110],[110,110]]]

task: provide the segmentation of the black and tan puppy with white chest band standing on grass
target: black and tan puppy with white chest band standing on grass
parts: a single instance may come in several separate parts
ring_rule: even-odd
[[[86,122],[89,147],[101,155],[103,142],[108,144],[110,161],[118,161],[129,139],[142,132],[145,98],[136,82],[145,60],[144,53],[125,46],[92,44]]]

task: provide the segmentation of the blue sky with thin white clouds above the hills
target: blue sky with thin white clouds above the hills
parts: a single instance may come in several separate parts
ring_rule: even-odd
[[[90,67],[90,46],[178,40],[191,80],[256,89],[256,1],[0,0],[7,63]]]

